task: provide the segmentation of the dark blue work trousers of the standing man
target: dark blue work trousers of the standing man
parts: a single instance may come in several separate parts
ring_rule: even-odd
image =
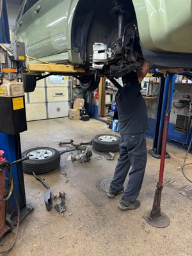
[[[129,172],[129,182],[124,191],[124,200],[135,202],[140,195],[147,164],[147,144],[145,132],[140,134],[121,134],[120,157],[116,165],[111,186],[117,191],[124,185]]]

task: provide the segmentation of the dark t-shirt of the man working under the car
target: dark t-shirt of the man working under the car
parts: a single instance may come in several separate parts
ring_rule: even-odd
[[[129,83],[116,93],[116,106],[121,134],[137,134],[150,128],[145,100],[136,72],[130,74]]]

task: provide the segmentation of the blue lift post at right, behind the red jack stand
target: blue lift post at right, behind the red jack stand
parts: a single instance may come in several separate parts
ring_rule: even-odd
[[[170,79],[172,79],[172,91],[171,95],[168,95]],[[161,148],[163,139],[163,127],[164,127],[164,114],[166,111],[166,104],[168,97],[170,97],[170,110],[172,109],[173,92],[175,86],[175,75],[170,76],[169,74],[161,78],[160,88],[159,88],[159,98],[157,103],[157,115],[156,115],[156,131],[154,134],[153,148],[149,150],[149,153],[156,158],[161,158]],[[166,158],[170,158],[170,154],[166,152]]]

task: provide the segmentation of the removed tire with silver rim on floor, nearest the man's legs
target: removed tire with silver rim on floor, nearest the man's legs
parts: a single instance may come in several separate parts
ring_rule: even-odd
[[[118,152],[120,137],[113,134],[99,134],[93,137],[93,148],[100,152]]]

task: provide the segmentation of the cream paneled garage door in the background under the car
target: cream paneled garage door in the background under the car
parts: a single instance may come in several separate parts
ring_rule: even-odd
[[[37,82],[35,92],[26,93],[27,120],[67,117],[68,77],[50,76]]]

